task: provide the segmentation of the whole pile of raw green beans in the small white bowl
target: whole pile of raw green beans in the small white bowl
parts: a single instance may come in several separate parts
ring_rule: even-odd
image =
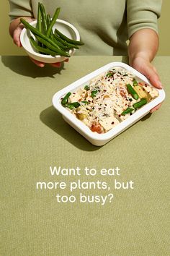
[[[68,53],[70,49],[79,49],[79,46],[84,45],[81,41],[73,40],[63,35],[57,28],[53,31],[53,25],[58,19],[60,11],[61,8],[58,7],[55,10],[53,18],[51,18],[50,14],[46,14],[44,5],[38,3],[36,27],[30,25],[30,23],[23,18],[20,19],[24,27],[30,30],[35,36],[35,38],[30,36],[30,43],[35,51],[40,54],[70,57]]]

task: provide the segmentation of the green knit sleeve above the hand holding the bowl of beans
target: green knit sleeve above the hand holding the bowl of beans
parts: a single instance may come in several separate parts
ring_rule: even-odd
[[[30,0],[9,0],[9,17],[11,20],[17,17],[32,17],[32,7]]]

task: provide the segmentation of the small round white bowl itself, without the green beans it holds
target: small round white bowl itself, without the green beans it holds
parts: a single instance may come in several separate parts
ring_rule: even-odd
[[[37,20],[30,22],[30,25],[32,25],[33,27],[36,27],[36,24],[37,24]],[[79,31],[76,29],[76,27],[66,22],[65,20],[56,20],[55,25],[53,26],[53,30],[55,30],[55,28],[61,31],[61,33],[66,35],[68,38],[71,38],[73,40],[80,40]],[[26,28],[24,28],[20,35],[20,40],[24,50],[27,52],[27,54],[30,57],[32,57],[32,59],[36,59],[37,61],[41,61],[45,63],[61,62],[68,59],[68,57],[61,56],[61,55],[50,56],[45,54],[39,54],[37,51],[35,51],[34,48],[32,48],[32,45],[30,43],[31,35],[32,33],[30,32],[30,30],[27,30]],[[32,37],[35,38],[34,35],[32,35]],[[75,49],[71,49],[69,50],[68,53],[70,55],[73,55],[74,52],[75,52]]]

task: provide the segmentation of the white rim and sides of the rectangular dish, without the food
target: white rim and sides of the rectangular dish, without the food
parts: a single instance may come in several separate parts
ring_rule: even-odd
[[[53,95],[53,106],[63,115],[63,119],[66,122],[68,122],[68,124],[70,124],[71,127],[76,129],[77,132],[79,132],[82,136],[84,136],[86,140],[89,140],[91,144],[97,145],[97,146],[104,145],[107,142],[109,142],[109,140],[112,140],[114,137],[116,137],[125,129],[133,125],[136,121],[141,119],[143,116],[146,116],[146,114],[148,114],[149,111],[154,106],[157,106],[159,103],[164,101],[164,98],[165,98],[164,90],[158,90],[157,98],[153,99],[150,103],[147,103],[145,106],[135,111],[133,115],[129,116],[128,119],[125,119],[124,121],[120,122],[120,124],[117,124],[117,126],[110,129],[109,132],[106,132],[104,134],[91,132],[91,130],[89,129],[89,127],[86,126],[86,124],[84,124],[79,119],[77,119],[76,116],[73,116],[73,114],[71,114],[66,108],[64,108],[61,105],[61,98],[64,97],[68,92],[72,93],[72,92],[75,92],[78,88],[83,88],[84,85],[86,85],[89,82],[89,80],[93,79],[94,77],[97,77],[99,74],[102,74],[103,72],[107,72],[109,69],[113,67],[125,68],[128,71],[135,74],[135,76],[138,79],[148,83],[148,85],[151,85],[151,83],[143,74],[140,74],[140,72],[133,69],[133,67],[130,67],[128,64],[125,64],[122,62],[112,62],[105,65],[104,67],[101,67],[95,70],[94,72],[91,72],[90,74],[87,74],[86,76],[71,83],[71,85],[68,85],[66,88],[63,88],[62,90],[58,91],[58,93],[55,93],[55,95]]]

